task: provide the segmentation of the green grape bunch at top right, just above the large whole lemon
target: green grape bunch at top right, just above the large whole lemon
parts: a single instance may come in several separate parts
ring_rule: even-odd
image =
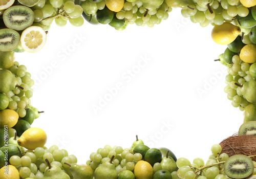
[[[222,25],[224,21],[231,23],[238,15],[245,17],[249,14],[248,8],[239,0],[214,0],[209,7],[202,7],[193,1],[181,9],[181,14],[183,17],[189,17],[193,23],[199,23],[201,27],[207,27],[209,24]]]

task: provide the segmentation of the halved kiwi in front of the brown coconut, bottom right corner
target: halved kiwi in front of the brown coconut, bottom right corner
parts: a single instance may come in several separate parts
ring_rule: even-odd
[[[253,173],[252,160],[246,155],[233,155],[224,164],[224,172],[230,178],[246,178]]]

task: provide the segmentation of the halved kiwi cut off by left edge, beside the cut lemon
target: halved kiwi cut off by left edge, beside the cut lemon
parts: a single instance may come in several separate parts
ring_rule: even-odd
[[[0,29],[0,51],[11,51],[18,47],[20,35],[12,29]]]

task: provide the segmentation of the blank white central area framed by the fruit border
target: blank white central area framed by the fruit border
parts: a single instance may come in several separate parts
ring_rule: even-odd
[[[32,127],[47,132],[47,147],[65,148],[79,164],[106,144],[129,148],[136,135],[177,158],[206,162],[211,145],[243,122],[223,91],[226,67],[214,59],[226,46],[212,41],[211,29],[191,23],[180,9],[154,28],[53,23],[44,48],[16,54],[35,80],[32,105],[45,111]],[[138,68],[143,58],[148,63]],[[95,113],[92,106],[117,83],[122,89]]]

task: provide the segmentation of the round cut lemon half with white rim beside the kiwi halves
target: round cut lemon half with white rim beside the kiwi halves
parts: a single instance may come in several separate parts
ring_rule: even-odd
[[[25,51],[38,52],[46,43],[46,32],[39,26],[30,26],[22,32],[20,43]]]

